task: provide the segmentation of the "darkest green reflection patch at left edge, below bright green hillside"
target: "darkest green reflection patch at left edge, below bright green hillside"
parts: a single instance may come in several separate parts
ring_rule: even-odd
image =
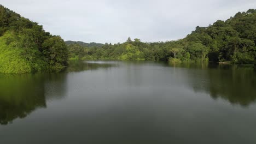
[[[46,107],[43,81],[40,75],[0,75],[0,124]]]

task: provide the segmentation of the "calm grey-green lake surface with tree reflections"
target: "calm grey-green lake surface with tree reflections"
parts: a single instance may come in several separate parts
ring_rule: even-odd
[[[256,143],[256,72],[212,63],[74,61],[0,74],[0,143]]]

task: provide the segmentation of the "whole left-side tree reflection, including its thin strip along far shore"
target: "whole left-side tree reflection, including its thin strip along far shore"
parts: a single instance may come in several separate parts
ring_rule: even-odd
[[[25,118],[37,109],[46,108],[46,101],[65,97],[68,72],[110,68],[113,63],[72,61],[61,73],[0,74],[0,124]]]

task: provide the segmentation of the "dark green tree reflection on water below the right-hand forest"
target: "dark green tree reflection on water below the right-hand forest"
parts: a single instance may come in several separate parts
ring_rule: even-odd
[[[219,65],[217,69],[207,70],[205,78],[209,82],[204,89],[214,99],[222,98],[241,106],[248,106],[256,100],[256,74],[253,68]]]

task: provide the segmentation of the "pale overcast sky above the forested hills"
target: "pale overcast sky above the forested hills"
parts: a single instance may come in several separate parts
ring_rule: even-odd
[[[186,37],[196,26],[207,27],[238,11],[256,8],[255,0],[0,0],[45,31],[64,40],[123,43]]]

